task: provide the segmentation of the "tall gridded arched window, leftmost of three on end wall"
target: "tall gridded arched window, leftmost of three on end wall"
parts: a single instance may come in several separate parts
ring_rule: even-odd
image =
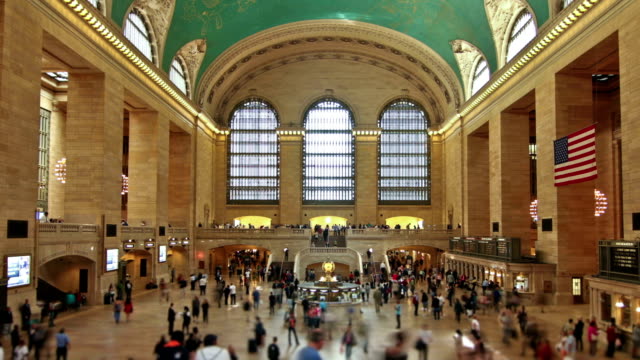
[[[278,115],[257,98],[245,100],[231,115],[228,203],[278,203],[280,149]]]

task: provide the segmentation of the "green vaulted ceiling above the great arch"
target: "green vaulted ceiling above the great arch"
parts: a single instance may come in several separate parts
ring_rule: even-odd
[[[207,53],[198,80],[217,56],[247,36],[278,25],[318,19],[356,20],[405,33],[432,48],[456,70],[449,42],[466,40],[482,50],[492,71],[496,69],[496,50],[484,0],[175,1],[162,67],[168,71],[174,55],[186,43],[206,38]],[[120,26],[132,2],[113,1],[112,17]],[[529,4],[538,25],[544,23],[549,17],[548,1],[531,0]]]

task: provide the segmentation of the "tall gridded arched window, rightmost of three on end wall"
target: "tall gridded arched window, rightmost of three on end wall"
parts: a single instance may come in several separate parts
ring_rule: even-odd
[[[428,121],[408,99],[389,104],[380,116],[378,201],[428,204],[430,201]]]

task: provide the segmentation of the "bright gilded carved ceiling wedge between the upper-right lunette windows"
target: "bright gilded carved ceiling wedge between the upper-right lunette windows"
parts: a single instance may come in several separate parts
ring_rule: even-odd
[[[484,0],[484,8],[491,26],[493,41],[498,55],[498,67],[505,64],[505,42],[509,34],[509,24],[527,4],[523,0]]]

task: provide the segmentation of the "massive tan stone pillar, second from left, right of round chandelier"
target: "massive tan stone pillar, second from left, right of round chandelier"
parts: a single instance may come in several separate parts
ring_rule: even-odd
[[[65,222],[120,223],[124,89],[107,74],[70,73]]]

